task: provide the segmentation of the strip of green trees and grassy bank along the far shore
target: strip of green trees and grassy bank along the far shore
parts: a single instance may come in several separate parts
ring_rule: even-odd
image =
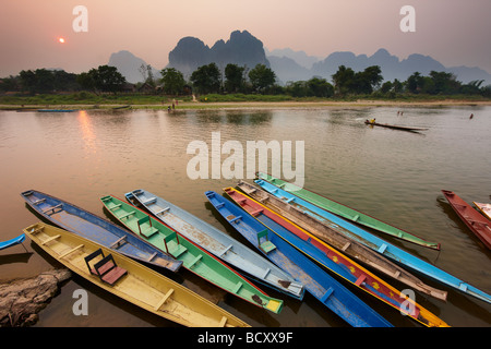
[[[446,72],[419,72],[406,81],[384,81],[380,67],[355,72],[338,67],[326,79],[313,76],[308,81],[278,84],[266,65],[228,64],[219,71],[215,63],[197,68],[188,80],[173,68],[163,69],[154,77],[149,67],[142,65],[142,82],[128,83],[115,67],[100,65],[81,74],[62,70],[27,70],[16,76],[0,79],[0,105],[9,106],[108,106],[131,105],[168,108],[213,103],[432,103],[491,101],[491,85],[483,81],[464,84]]]

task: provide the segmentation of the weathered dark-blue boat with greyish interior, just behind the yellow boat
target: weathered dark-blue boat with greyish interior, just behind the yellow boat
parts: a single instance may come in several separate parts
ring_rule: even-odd
[[[52,224],[134,260],[177,272],[182,262],[154,248],[132,232],[83,208],[48,194],[28,190],[22,197]]]

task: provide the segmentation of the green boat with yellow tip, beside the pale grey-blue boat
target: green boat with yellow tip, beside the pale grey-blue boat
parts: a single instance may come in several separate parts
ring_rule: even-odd
[[[251,304],[273,313],[282,311],[282,300],[267,296],[197,244],[152,218],[140,208],[110,195],[103,196],[100,201],[122,225],[135,234],[147,239],[157,249],[182,261],[183,267],[188,270]]]

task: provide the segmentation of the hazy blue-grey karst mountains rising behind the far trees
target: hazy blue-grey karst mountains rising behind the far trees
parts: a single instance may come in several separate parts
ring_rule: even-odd
[[[415,72],[428,75],[431,71],[450,72],[456,75],[463,83],[476,80],[484,80],[484,85],[491,84],[491,74],[480,68],[444,67],[430,56],[414,53],[406,59],[399,59],[391,55],[386,49],[379,49],[372,56],[355,55],[349,51],[333,52],[325,59],[309,56],[303,51],[295,51],[289,48],[268,51],[263,43],[249,32],[236,31],[230,34],[227,41],[218,40],[209,48],[195,37],[184,37],[169,52],[169,63],[165,68],[176,68],[184,77],[189,79],[191,73],[201,65],[215,62],[220,70],[228,63],[247,65],[248,69],[256,64],[270,67],[277,76],[280,84],[289,81],[306,81],[312,76],[324,77],[332,81],[339,65],[362,71],[370,65],[379,65],[382,70],[384,81],[407,80]],[[143,81],[140,72],[142,64],[146,67],[143,59],[135,57],[129,51],[112,53],[109,65],[118,68],[129,82]],[[159,77],[159,71],[153,68],[155,77]]]

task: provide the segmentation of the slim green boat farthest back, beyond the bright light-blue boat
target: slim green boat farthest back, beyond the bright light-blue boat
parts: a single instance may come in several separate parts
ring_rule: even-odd
[[[332,214],[338,215],[339,217],[343,217],[345,219],[357,222],[364,227],[372,228],[374,230],[384,232],[391,237],[408,241],[423,248],[440,250],[440,243],[427,241],[410,232],[407,232],[403,229],[396,228],[390,224],[381,221],[372,216],[356,210],[355,208],[343,205],[334,200],[322,196],[307,189],[297,186],[294,183],[283,181],[267,173],[258,172],[256,176],[259,179],[265,180],[283,189],[284,191],[295,194],[296,196],[301,197],[304,201],[308,201]]]

